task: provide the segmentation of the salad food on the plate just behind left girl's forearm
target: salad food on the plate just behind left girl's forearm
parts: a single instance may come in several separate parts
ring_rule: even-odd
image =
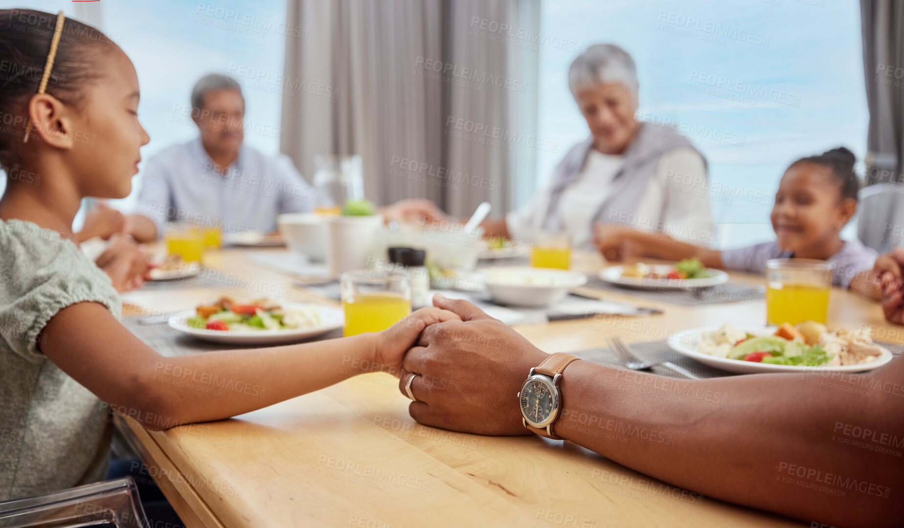
[[[197,306],[186,324],[206,330],[274,331],[313,328],[323,322],[313,306],[284,308],[268,298],[240,304],[231,297],[220,297],[210,305]]]

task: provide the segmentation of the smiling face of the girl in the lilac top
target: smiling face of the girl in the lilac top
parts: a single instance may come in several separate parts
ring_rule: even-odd
[[[852,199],[841,199],[832,169],[810,163],[795,165],[778,184],[770,216],[778,246],[800,252],[837,240],[856,208]]]

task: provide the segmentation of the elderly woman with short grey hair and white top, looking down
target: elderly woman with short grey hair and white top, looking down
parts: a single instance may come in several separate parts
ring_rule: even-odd
[[[575,247],[589,249],[595,223],[620,223],[710,244],[706,162],[673,128],[636,121],[631,56],[614,44],[590,46],[571,63],[569,88],[590,137],[562,158],[545,190],[484,222],[485,232],[530,240],[564,230]]]

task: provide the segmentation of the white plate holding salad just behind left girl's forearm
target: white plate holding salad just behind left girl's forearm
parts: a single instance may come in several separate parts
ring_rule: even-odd
[[[170,317],[169,325],[170,328],[173,328],[178,332],[182,332],[185,335],[192,335],[193,337],[203,339],[204,341],[225,344],[267,345],[302,341],[315,337],[316,335],[326,334],[336,328],[342,328],[345,323],[345,317],[341,308],[303,303],[290,303],[285,305],[287,308],[301,308],[306,306],[314,306],[316,308],[322,325],[288,330],[207,330],[204,328],[192,328],[187,324],[188,318],[195,316],[197,313],[194,309],[185,310],[184,312],[179,312]]]

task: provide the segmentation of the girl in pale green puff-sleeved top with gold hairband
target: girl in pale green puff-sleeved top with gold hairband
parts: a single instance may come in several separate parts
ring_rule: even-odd
[[[0,56],[14,65],[0,80],[0,501],[103,478],[110,407],[152,429],[225,419],[341,382],[348,365],[396,368],[425,326],[458,318],[425,308],[380,333],[162,357],[119,324],[110,278],[71,231],[82,197],[131,191],[149,140],[135,68],[97,30],[33,10],[0,10]],[[192,391],[172,372],[260,390]]]

